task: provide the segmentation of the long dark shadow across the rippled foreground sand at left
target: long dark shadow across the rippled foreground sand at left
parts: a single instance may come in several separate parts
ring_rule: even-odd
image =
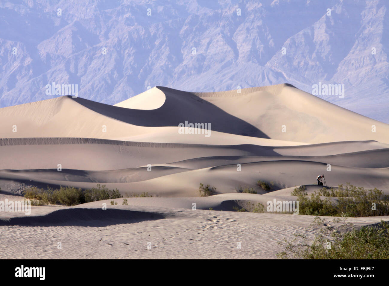
[[[126,209],[60,209],[43,216],[23,216],[0,219],[0,226],[108,226],[121,223],[137,223],[163,219],[165,216],[151,212],[139,212]]]

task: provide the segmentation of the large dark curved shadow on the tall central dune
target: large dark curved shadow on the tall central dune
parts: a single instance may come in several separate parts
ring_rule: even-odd
[[[100,104],[84,98],[72,98],[77,103],[98,112],[138,126],[178,126],[179,123],[210,123],[212,131],[269,139],[255,126],[239,119],[210,102],[187,91],[158,86],[166,96],[165,103],[154,110],[139,110]]]

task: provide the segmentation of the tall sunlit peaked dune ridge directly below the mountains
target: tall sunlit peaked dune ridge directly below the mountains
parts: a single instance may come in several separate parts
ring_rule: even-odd
[[[164,101],[161,92],[165,95]],[[387,124],[286,84],[242,89],[241,93],[190,93],[157,87],[116,106],[65,96],[4,107],[0,109],[0,120],[3,123],[0,126],[1,138],[123,139],[143,136],[146,140],[150,135],[152,142],[159,142],[158,137],[166,138],[166,134],[155,136],[159,127],[174,127],[171,135],[185,137],[178,134],[178,125],[188,121],[210,123],[215,133],[264,139],[305,143],[351,140],[389,143]],[[15,125],[17,132],[13,132],[12,126]],[[283,125],[286,132],[282,132]],[[375,125],[376,132],[371,131],[372,125]],[[106,132],[103,132],[103,126],[106,126]],[[202,144],[207,144],[207,137],[197,137]],[[217,135],[209,138],[213,137]],[[221,140],[230,137],[223,138]],[[215,144],[215,139],[212,144]]]

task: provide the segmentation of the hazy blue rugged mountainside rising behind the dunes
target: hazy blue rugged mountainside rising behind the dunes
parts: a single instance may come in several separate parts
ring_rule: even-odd
[[[385,0],[2,1],[0,107],[57,97],[46,94],[52,82],[107,104],[149,86],[289,82],[312,93],[320,82],[344,84],[344,97],[317,96],[389,123],[388,8]]]

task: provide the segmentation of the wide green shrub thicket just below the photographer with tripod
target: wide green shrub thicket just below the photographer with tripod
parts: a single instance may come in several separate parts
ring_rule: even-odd
[[[339,189],[322,188],[310,196],[304,187],[295,188],[291,195],[298,197],[299,214],[348,217],[389,215],[389,196],[377,188],[365,190],[347,183],[344,188],[342,185],[339,185]],[[337,202],[331,202],[329,197],[336,197]]]

